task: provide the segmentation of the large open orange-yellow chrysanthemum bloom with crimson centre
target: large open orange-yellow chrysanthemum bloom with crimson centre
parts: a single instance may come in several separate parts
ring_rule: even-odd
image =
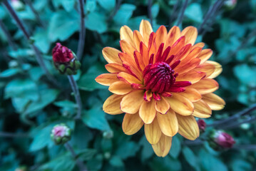
[[[194,117],[209,118],[225,102],[213,94],[218,83],[213,80],[222,68],[208,61],[213,51],[195,43],[198,31],[189,26],[183,31],[174,26],[168,32],[160,26],[153,32],[148,21],[141,21],[140,31],[123,26],[121,49],[103,48],[108,61],[96,78],[114,93],[103,104],[111,115],[126,113],[123,132],[133,135],[144,125],[145,136],[158,156],[168,154],[172,137],[180,133],[189,140],[199,136]]]

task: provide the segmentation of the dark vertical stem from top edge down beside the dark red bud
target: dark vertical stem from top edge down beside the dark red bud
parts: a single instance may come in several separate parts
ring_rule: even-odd
[[[86,40],[86,26],[85,26],[85,21],[84,21],[84,1],[83,0],[78,0],[79,2],[79,7],[80,7],[80,33],[79,33],[79,41],[78,41],[78,50],[77,50],[77,57],[78,60],[81,60],[82,55],[83,55],[83,48],[84,48],[84,43]]]

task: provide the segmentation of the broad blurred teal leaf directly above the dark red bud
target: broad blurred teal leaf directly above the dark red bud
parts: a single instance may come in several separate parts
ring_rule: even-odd
[[[79,29],[79,15],[76,11],[67,13],[58,11],[53,14],[48,28],[48,38],[51,42],[65,41]]]

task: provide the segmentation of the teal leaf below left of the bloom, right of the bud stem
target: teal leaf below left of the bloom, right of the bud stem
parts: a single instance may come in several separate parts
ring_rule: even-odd
[[[90,128],[96,128],[98,130],[110,130],[108,121],[106,120],[105,113],[101,108],[92,108],[86,110],[83,115],[83,123]]]

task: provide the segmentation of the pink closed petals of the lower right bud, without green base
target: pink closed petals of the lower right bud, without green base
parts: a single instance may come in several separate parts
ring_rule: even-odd
[[[222,132],[221,130],[215,133],[214,141],[217,145],[223,148],[230,148],[235,144],[235,140],[232,138],[232,136]]]

